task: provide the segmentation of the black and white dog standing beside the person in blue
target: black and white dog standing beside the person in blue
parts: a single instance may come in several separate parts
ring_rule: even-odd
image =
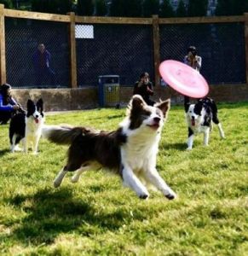
[[[33,154],[37,154],[37,145],[42,134],[44,123],[43,100],[39,99],[37,104],[28,100],[26,102],[26,113],[16,113],[10,120],[9,140],[11,152],[20,150],[17,144],[23,141],[24,152],[27,153],[28,147],[32,146]]]

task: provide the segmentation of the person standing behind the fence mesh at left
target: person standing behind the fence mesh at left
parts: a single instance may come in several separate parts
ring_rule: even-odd
[[[38,44],[37,51],[33,55],[36,85],[42,85],[49,79],[51,85],[55,85],[55,72],[50,67],[51,54],[44,44]]]

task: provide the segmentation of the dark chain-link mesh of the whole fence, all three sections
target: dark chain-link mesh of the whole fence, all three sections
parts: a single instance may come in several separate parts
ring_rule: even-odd
[[[70,87],[66,22],[5,18],[7,81],[15,88]],[[245,27],[242,22],[159,25],[160,60],[182,61],[194,45],[201,73],[210,84],[245,83]],[[38,44],[49,50],[49,71],[38,72]],[[77,24],[78,87],[97,86],[101,75],[118,75],[132,86],[146,71],[154,80],[153,26]]]

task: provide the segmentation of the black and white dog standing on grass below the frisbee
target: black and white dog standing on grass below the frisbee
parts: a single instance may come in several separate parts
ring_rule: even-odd
[[[211,98],[205,97],[199,99],[196,104],[191,104],[189,98],[185,96],[184,108],[188,128],[187,149],[192,149],[193,137],[198,133],[204,133],[204,145],[208,145],[212,122],[218,126],[220,136],[225,138],[222,125],[217,117],[216,102]]]

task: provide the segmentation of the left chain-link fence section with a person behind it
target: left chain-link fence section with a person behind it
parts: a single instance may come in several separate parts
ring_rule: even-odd
[[[62,22],[5,18],[8,83],[15,88],[68,87],[67,27]],[[38,44],[49,51],[48,58],[38,55]]]

